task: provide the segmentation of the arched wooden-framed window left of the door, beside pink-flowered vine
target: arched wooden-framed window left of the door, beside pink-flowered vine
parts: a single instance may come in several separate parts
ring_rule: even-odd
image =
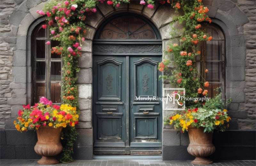
[[[39,102],[44,96],[53,103],[61,103],[61,58],[51,53],[51,48],[59,45],[59,41],[49,38],[48,26],[42,27],[45,22],[38,25],[31,37],[31,53],[33,66],[33,102]],[[50,44],[46,44],[50,41]]]

